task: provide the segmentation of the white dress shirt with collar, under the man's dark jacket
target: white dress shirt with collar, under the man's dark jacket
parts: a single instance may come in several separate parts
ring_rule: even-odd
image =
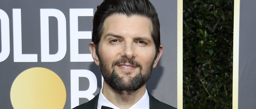
[[[107,98],[102,93],[102,88],[101,88],[101,91],[99,92],[97,109],[101,109],[101,106],[108,106],[113,109],[120,109],[114,104],[112,104],[112,102],[107,100]],[[145,94],[142,96],[142,98],[140,98],[140,100],[136,102],[134,105],[132,105],[129,109],[149,109],[149,96],[147,93],[147,89],[145,91]]]

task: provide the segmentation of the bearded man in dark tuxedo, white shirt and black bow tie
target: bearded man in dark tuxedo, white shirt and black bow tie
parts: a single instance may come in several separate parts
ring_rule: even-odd
[[[74,109],[176,109],[146,82],[163,52],[157,12],[148,0],[104,0],[93,18],[90,52],[104,78],[91,101]]]

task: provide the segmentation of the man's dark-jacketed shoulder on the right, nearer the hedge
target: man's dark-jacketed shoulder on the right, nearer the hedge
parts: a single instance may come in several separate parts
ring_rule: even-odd
[[[155,97],[153,97],[151,94],[148,93],[149,96],[149,107],[150,109],[177,109],[173,106],[167,105],[159,100],[157,100]]]

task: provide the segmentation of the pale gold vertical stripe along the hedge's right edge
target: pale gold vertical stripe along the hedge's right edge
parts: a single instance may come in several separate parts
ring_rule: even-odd
[[[238,109],[238,68],[239,68],[239,18],[240,0],[234,0],[234,29],[233,29],[233,93],[232,107]]]

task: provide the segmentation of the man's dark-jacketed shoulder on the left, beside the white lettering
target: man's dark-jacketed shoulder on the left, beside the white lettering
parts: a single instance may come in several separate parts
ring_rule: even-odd
[[[99,94],[97,94],[92,100],[76,106],[73,109],[97,109]]]

